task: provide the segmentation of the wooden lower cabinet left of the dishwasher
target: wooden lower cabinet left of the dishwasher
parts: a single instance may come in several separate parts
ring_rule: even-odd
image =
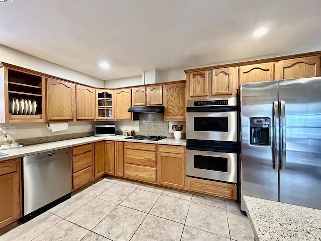
[[[21,217],[20,158],[0,162],[0,228]]]

